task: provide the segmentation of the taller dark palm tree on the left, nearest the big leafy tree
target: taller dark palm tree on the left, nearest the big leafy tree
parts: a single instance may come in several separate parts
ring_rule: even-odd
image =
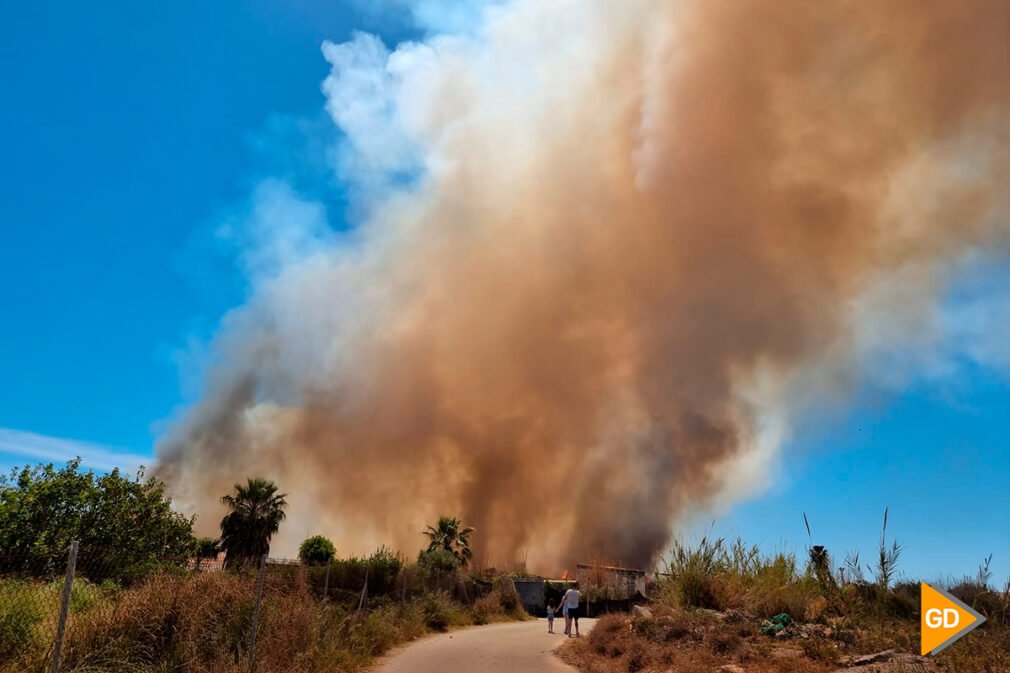
[[[221,519],[225,567],[255,562],[270,551],[270,539],[281,526],[288,504],[287,494],[278,493],[277,488],[268,479],[248,479],[221,498],[230,509]]]

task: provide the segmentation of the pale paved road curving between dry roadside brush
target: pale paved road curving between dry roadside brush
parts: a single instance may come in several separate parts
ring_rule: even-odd
[[[585,636],[593,619],[580,619]],[[464,629],[425,638],[396,650],[373,669],[375,673],[572,673],[574,668],[552,654],[568,639],[565,620],[513,621]]]

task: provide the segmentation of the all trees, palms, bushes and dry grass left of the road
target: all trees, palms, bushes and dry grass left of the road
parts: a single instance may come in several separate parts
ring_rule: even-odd
[[[82,473],[72,462],[0,480],[0,673],[48,670],[66,550],[78,539],[61,671],[247,671],[259,561],[286,501],[262,479],[222,499],[222,535],[207,539],[142,475]],[[470,568],[473,533],[443,516],[426,539],[419,533],[427,544],[414,562],[389,548],[341,557],[312,536],[298,562],[268,563],[257,671],[357,671],[430,632],[526,618],[508,578]],[[224,569],[212,562],[219,554]]]

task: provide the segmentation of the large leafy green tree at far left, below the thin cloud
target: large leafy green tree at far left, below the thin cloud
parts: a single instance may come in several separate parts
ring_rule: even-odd
[[[59,563],[81,543],[85,576],[124,579],[144,569],[184,562],[193,547],[193,518],[172,509],[165,484],[144,478],[82,471],[74,459],[14,468],[0,476],[0,550],[23,569]]]

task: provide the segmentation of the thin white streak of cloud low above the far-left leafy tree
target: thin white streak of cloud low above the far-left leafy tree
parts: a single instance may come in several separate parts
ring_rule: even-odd
[[[95,470],[120,468],[133,473],[141,465],[150,465],[154,459],[131,454],[114,447],[91,442],[79,442],[25,430],[0,427],[0,455],[8,454],[30,461],[64,463],[80,456],[85,467]]]

